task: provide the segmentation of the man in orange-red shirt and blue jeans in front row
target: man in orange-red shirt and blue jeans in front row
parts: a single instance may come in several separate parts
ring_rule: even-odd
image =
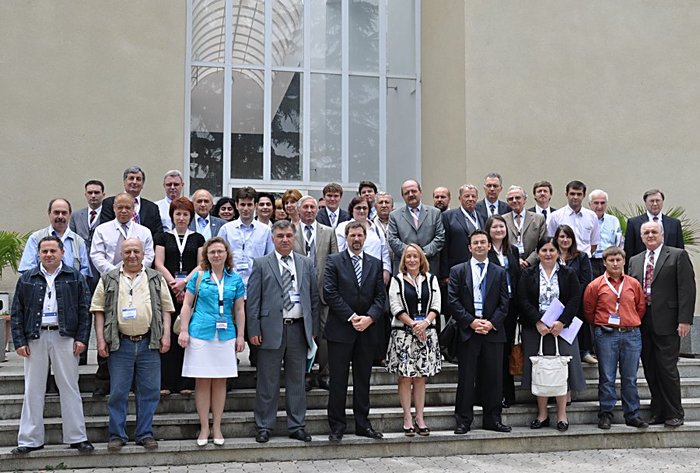
[[[603,252],[605,273],[591,282],[583,294],[583,312],[595,326],[598,354],[598,428],[609,429],[617,402],[615,373],[619,364],[625,424],[649,427],[639,416],[637,369],[642,352],[640,326],[646,311],[642,285],[623,274],[625,252],[615,246]]]

